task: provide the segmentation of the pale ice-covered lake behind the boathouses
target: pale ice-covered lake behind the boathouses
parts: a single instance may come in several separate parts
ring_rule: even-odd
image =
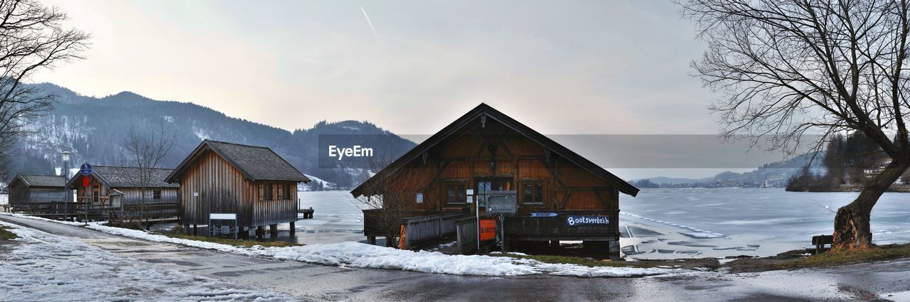
[[[620,198],[622,231],[632,233],[622,238],[622,246],[637,253],[628,257],[642,258],[770,256],[809,247],[814,235],[831,234],[833,211],[857,195],[777,188],[642,189],[638,197]],[[296,238],[286,240],[365,241],[363,215],[347,191],[298,196],[300,208],[312,206],[315,218],[298,220]],[[872,213],[872,228],[877,244],[910,242],[910,194],[885,193]]]

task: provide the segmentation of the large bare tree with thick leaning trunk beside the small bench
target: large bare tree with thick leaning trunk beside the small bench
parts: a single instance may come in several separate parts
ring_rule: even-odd
[[[807,136],[824,144],[861,133],[892,161],[834,217],[834,249],[872,242],[869,219],[910,165],[906,142],[908,11],[903,0],[678,0],[707,51],[693,62],[720,93],[711,110],[723,133],[794,150]],[[889,135],[901,137],[895,144]]]

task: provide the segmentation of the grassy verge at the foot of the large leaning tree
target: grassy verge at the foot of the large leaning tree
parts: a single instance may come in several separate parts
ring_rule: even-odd
[[[856,263],[892,260],[903,257],[910,257],[910,245],[887,245],[869,247],[864,250],[846,250],[840,252],[828,251],[805,259],[781,264],[780,268],[835,267]]]

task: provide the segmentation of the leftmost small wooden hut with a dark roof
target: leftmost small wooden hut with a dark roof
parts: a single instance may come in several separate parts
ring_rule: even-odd
[[[20,174],[13,178],[7,190],[9,205],[26,212],[49,208],[47,203],[73,200],[71,191],[66,189],[65,176]]]

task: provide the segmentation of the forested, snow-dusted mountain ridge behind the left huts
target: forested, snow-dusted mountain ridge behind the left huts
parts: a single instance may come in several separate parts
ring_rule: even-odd
[[[413,142],[369,122],[320,122],[293,132],[224,114],[192,103],[152,100],[130,92],[114,96],[81,96],[53,84],[36,84],[44,93],[58,96],[55,108],[27,125],[33,135],[20,140],[13,173],[53,173],[61,165],[60,151],[74,152],[74,165],[119,165],[124,162],[128,129],[154,130],[164,125],[176,131],[175,146],[162,166],[177,166],[203,139],[268,146],[301,172],[337,187],[357,186],[369,176],[359,167],[319,167],[319,136],[344,135],[376,148],[375,156],[397,158]],[[369,145],[368,145],[369,144]],[[319,182],[320,185],[326,185]]]

